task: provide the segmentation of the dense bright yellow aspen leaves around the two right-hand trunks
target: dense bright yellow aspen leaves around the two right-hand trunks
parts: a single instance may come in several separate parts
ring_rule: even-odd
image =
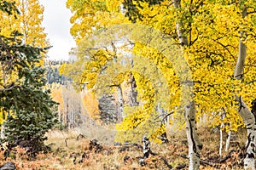
[[[212,126],[227,122],[230,123],[232,130],[237,130],[238,127],[243,126],[243,122],[237,112],[234,92],[239,91],[247,105],[250,105],[255,98],[253,94],[256,92],[252,83],[256,71],[255,58],[253,58],[255,54],[253,48],[256,46],[253,38],[255,14],[242,18],[241,7],[237,3],[212,1],[191,3],[184,0],[180,9],[174,9],[168,6],[168,3],[165,1],[154,7],[144,4],[140,9],[143,21],[138,20],[138,22],[160,29],[177,39],[175,37],[177,20],[183,21],[184,35],[189,39],[189,46],[185,48],[183,54],[193,73],[197,116],[207,115],[212,120]],[[167,6],[169,8],[166,8]],[[250,6],[255,6],[255,3],[250,2]],[[247,75],[243,82],[236,81],[233,76],[240,31],[250,32],[244,41],[247,43],[245,66]],[[135,46],[134,51],[148,53],[148,48]],[[143,56],[155,58],[152,54]],[[223,112],[227,114],[224,120],[220,119]]]

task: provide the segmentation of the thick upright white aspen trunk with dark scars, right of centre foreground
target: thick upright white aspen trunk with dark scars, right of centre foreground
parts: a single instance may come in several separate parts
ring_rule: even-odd
[[[181,8],[180,0],[172,1],[173,8],[179,9]],[[177,37],[179,39],[179,43],[182,47],[186,47],[189,45],[188,37],[184,35],[185,29],[183,27],[182,20],[177,20],[176,24],[177,29]],[[191,83],[187,86],[193,86]],[[186,130],[187,130],[187,138],[189,144],[189,170],[197,170],[200,168],[200,150],[202,149],[202,144],[200,139],[198,138],[198,134],[196,132],[196,122],[195,122],[195,102],[187,101],[185,105],[185,119],[186,119]]]

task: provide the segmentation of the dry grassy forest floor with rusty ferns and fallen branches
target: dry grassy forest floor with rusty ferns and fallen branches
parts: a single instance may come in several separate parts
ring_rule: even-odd
[[[245,145],[245,130],[233,133],[230,150],[218,155],[219,131],[210,127],[199,127],[201,141],[201,169],[242,169],[242,146]],[[26,150],[16,148],[13,158],[0,155],[0,165],[13,161],[17,169],[94,169],[94,170],[130,170],[130,169],[188,169],[188,146],[183,131],[168,136],[167,144],[151,144],[154,155],[143,163],[138,162],[143,156],[142,144],[106,145],[96,140],[85,139],[79,130],[51,131],[46,144],[52,148],[49,154],[39,154],[29,159]],[[224,139],[226,137],[224,136]],[[225,140],[224,140],[225,141]],[[14,159],[15,157],[15,159]],[[172,167],[172,168],[171,168]]]

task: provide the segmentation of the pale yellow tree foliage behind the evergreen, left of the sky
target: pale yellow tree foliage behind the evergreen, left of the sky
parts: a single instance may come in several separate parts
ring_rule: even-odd
[[[34,47],[45,48],[49,46],[46,33],[42,26],[44,7],[38,0],[14,0],[20,14],[8,15],[0,11],[0,34],[9,37],[13,31],[24,35],[23,41]]]

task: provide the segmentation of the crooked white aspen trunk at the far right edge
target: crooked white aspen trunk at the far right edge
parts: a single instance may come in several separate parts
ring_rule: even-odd
[[[242,17],[247,16],[247,7],[243,8]],[[246,32],[241,31],[241,37],[239,40],[239,54],[236,61],[236,69],[234,71],[234,77],[237,80],[242,80],[244,75],[244,63],[247,56],[246,44],[242,42]],[[244,103],[241,96],[236,96],[236,101],[239,102],[238,112],[242,117],[243,122],[247,128],[247,144],[246,144],[246,156],[244,158],[244,169],[255,170],[255,147],[256,147],[256,120],[252,111],[248,109],[248,106]]]

